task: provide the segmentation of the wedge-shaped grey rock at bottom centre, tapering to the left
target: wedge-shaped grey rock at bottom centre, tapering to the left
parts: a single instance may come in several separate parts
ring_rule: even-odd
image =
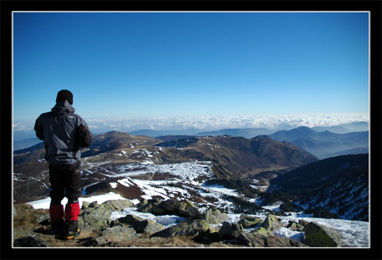
[[[156,232],[152,236],[174,237],[174,236],[196,236],[199,232],[205,232],[209,229],[209,224],[204,219],[194,219],[188,222],[181,222],[174,227],[169,227]]]

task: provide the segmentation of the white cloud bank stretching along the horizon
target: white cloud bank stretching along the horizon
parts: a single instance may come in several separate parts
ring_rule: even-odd
[[[226,115],[186,117],[131,117],[84,118],[93,132],[111,130],[132,132],[136,130],[220,130],[224,128],[268,128],[286,126],[333,126],[352,122],[369,123],[368,113],[333,113],[301,115]],[[15,121],[14,132],[32,131],[34,121]]]

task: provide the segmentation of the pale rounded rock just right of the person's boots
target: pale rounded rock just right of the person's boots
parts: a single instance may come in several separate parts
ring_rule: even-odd
[[[131,227],[115,226],[105,229],[101,236],[94,239],[96,244],[105,245],[109,243],[118,243],[127,239],[135,239],[138,236]]]

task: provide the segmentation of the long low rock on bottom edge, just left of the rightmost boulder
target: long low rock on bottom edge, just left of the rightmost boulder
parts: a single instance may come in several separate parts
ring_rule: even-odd
[[[251,247],[307,247],[305,244],[294,239],[280,236],[263,236],[255,232],[240,234],[236,239],[230,242]]]

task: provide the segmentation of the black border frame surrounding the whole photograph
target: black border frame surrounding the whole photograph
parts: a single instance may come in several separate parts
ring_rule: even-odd
[[[1,4],[1,259],[382,259],[381,253],[381,11],[382,1],[0,1]],[[12,249],[12,11],[370,11],[371,247],[368,249]],[[11,100],[13,102],[13,100]],[[5,118],[5,119],[4,119]],[[4,170],[4,168],[6,170]],[[13,210],[12,210],[13,211]],[[93,250],[91,250],[93,249]],[[112,250],[112,251],[109,251]]]

